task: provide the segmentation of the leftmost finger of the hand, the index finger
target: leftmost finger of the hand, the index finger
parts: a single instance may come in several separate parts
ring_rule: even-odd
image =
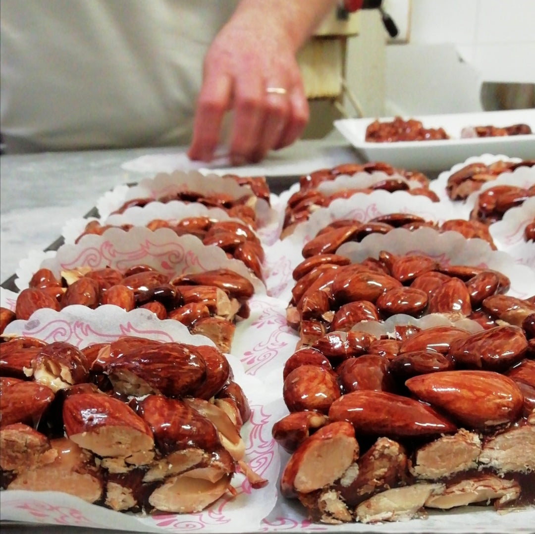
[[[197,99],[190,159],[210,161],[219,142],[223,116],[232,103],[232,79],[219,73],[205,73]]]

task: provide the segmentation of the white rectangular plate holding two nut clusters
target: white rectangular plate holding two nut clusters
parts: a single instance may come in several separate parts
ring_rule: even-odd
[[[425,128],[442,127],[450,139],[436,141],[396,141],[369,143],[365,141],[366,127],[373,118],[335,120],[334,126],[355,147],[366,161],[381,161],[410,170],[444,171],[470,156],[506,154],[509,157],[535,158],[535,134],[488,138],[461,138],[461,131],[469,126],[510,126],[524,123],[535,132],[535,109],[484,111],[480,113],[451,113],[423,115],[414,118]],[[393,117],[381,117],[389,121]]]

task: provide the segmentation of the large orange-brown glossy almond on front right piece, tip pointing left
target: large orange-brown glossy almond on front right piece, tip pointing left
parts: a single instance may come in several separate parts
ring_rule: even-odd
[[[410,378],[405,385],[471,429],[516,421],[523,405],[515,382],[491,371],[442,371]]]

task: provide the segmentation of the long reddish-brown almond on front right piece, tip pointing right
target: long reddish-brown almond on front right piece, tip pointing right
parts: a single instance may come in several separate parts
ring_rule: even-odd
[[[332,403],[328,417],[330,421],[349,421],[357,437],[423,437],[457,430],[430,406],[384,391],[354,391],[342,395]]]

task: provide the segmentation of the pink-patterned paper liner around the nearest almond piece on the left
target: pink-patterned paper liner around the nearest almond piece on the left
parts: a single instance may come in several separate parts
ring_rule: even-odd
[[[122,335],[213,346],[213,343],[202,335],[191,335],[186,327],[177,321],[160,321],[148,310],[126,312],[109,305],[95,310],[85,306],[70,306],[60,312],[50,309],[37,310],[28,321],[14,321],[7,325],[4,333],[27,335],[49,343],[65,341],[80,348],[91,343],[110,342]],[[165,514],[144,516],[141,519],[131,514],[111,512],[99,506],[88,505],[74,497],[66,499],[62,493],[5,491],[1,499],[2,520],[59,523],[59,517],[63,516],[66,524],[119,530],[132,530],[133,525],[135,530],[143,530],[142,525],[168,530],[167,527],[171,524],[196,524],[198,529],[211,532],[257,529],[261,518],[274,506],[277,495],[276,480],[280,459],[277,445],[271,437],[271,428],[279,415],[277,412],[271,412],[269,395],[264,394],[261,380],[247,373],[239,358],[232,355],[227,358],[234,373],[234,380],[243,388],[253,410],[250,422],[246,423],[241,431],[246,443],[246,461],[257,474],[268,478],[268,486],[261,490],[252,490],[242,475],[236,475],[233,486],[238,490],[238,496],[234,499],[223,497],[198,514]],[[245,509],[247,514],[244,514]],[[42,515],[37,513],[39,510],[42,510]]]

